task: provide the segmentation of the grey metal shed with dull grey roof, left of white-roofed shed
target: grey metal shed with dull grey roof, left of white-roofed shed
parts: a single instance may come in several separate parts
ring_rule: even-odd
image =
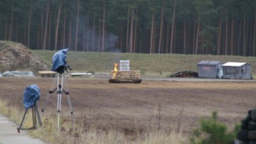
[[[223,62],[220,61],[201,61],[198,63],[198,77],[203,78],[222,78]]]

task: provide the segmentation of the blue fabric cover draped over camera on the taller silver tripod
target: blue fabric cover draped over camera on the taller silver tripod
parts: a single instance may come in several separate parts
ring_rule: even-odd
[[[67,65],[66,62],[66,56],[67,56],[68,48],[64,48],[63,50],[60,50],[58,52],[55,52],[53,55],[53,67],[51,70],[53,72],[57,72],[58,68],[65,65]]]

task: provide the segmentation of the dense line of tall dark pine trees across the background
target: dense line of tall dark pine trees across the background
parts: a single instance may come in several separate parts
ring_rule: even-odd
[[[256,55],[255,0],[0,0],[0,39],[31,49]]]

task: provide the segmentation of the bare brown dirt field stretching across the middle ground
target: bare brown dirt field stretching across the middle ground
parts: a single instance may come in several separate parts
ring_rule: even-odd
[[[41,89],[38,109],[46,101],[53,78],[0,78],[0,98],[18,105],[23,113],[23,90],[30,84]],[[68,79],[75,119],[102,128],[124,131],[170,130],[181,126],[190,132],[199,118],[218,111],[220,121],[233,128],[256,107],[256,81],[167,82],[110,84],[107,79]],[[57,94],[50,97],[45,113],[56,112]],[[61,116],[70,119],[63,94]],[[159,114],[160,112],[160,114]]]

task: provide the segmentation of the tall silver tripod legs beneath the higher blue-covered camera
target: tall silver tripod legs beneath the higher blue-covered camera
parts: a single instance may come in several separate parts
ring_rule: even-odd
[[[64,70],[66,70],[66,69],[64,69]],[[69,96],[69,92],[68,92],[68,83],[67,83],[67,80],[65,79],[64,70],[63,71],[58,71],[57,74],[55,75],[53,83],[50,86],[50,91],[48,92],[47,99],[46,99],[45,103],[43,104],[43,108],[41,109],[41,111],[43,113],[43,111],[46,109],[46,104],[47,104],[50,96],[52,96],[53,92],[55,92],[57,90],[57,96],[58,96],[58,99],[57,99],[58,100],[57,101],[57,112],[58,112],[57,128],[59,128],[59,126],[60,126],[60,109],[61,109],[61,99],[62,99],[63,92],[64,92],[65,95],[67,95],[68,105],[69,105],[70,113],[71,113],[71,118],[72,118],[72,121],[73,121],[73,125],[75,125],[75,119],[74,119],[74,115],[73,115],[73,108],[71,106],[70,96]],[[60,81],[60,75],[61,75],[61,81]],[[56,83],[57,83],[57,87],[54,88]]]

